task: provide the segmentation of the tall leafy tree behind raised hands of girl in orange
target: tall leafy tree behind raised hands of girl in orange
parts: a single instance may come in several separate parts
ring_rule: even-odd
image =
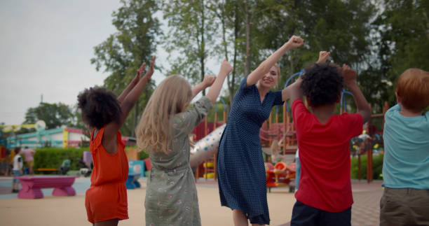
[[[142,62],[150,62],[156,52],[157,36],[162,34],[160,23],[154,16],[159,10],[156,1],[121,0],[122,6],[112,13],[112,23],[117,32],[106,41],[95,46],[95,57],[91,63],[97,71],[104,69],[109,76],[104,80],[104,87],[121,94],[134,78]],[[139,115],[154,90],[154,82],[147,83],[142,96],[137,101],[134,113],[125,120],[121,133],[134,136],[134,128]]]

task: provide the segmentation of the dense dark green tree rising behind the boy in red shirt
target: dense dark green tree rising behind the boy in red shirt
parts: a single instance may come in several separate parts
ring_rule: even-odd
[[[265,8],[253,21],[253,42],[258,43],[260,62],[279,48],[290,36],[304,38],[304,45],[287,52],[280,64],[279,87],[292,75],[313,64],[319,52],[331,52],[331,61],[348,64],[362,71],[371,55],[371,22],[376,10],[369,0],[261,1]],[[259,59],[258,59],[259,58]]]

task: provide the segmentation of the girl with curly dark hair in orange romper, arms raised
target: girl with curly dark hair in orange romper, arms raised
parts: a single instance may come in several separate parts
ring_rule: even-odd
[[[128,160],[119,129],[139,99],[154,73],[155,57],[149,71],[140,79],[146,63],[116,99],[113,92],[91,87],[78,96],[82,120],[91,129],[90,151],[94,169],[91,186],[86,190],[85,206],[88,221],[93,225],[118,225],[128,219],[127,190]]]

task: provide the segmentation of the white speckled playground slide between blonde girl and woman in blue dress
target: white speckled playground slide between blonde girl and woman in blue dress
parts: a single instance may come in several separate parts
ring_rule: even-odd
[[[209,159],[217,152],[219,147],[219,141],[224,132],[225,125],[217,127],[210,134],[205,136],[203,139],[200,139],[195,143],[195,146],[191,149],[191,157],[189,163],[191,167],[198,167],[205,160]]]

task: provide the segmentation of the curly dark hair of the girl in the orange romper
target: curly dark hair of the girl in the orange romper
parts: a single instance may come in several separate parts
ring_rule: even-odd
[[[91,87],[78,95],[82,120],[90,127],[101,129],[109,122],[119,120],[121,106],[114,92],[103,87]]]

